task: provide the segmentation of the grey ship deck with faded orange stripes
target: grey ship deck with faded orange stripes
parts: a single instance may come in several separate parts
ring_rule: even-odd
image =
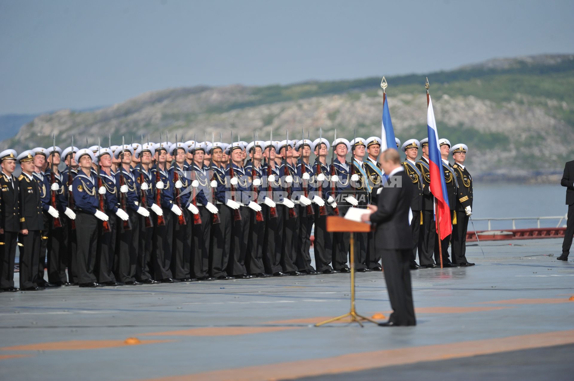
[[[1,293],[2,379],[571,380],[561,243],[469,243],[476,266],[411,272],[416,327],[313,327],[348,312],[349,274]],[[388,316],[383,275],[355,283],[358,313]]]

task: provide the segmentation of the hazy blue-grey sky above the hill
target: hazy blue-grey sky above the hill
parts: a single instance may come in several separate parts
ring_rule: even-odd
[[[0,114],[574,53],[574,1],[0,0]]]

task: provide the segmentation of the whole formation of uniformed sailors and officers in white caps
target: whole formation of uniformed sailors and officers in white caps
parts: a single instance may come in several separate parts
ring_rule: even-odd
[[[441,256],[444,266],[474,265],[465,254],[468,147],[439,144],[453,224],[440,252],[428,139],[400,147],[412,188],[412,270],[436,268]],[[350,233],[327,231],[327,217],[376,203],[380,151],[376,136],[5,150],[0,289],[18,290],[17,248],[22,290],[349,272]],[[376,245],[374,234],[355,234],[358,272],[381,270]]]

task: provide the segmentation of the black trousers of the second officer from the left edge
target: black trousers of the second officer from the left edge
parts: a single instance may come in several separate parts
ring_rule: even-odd
[[[35,287],[40,282],[38,262],[40,262],[40,230],[28,230],[28,234],[18,234],[20,246],[20,288]]]

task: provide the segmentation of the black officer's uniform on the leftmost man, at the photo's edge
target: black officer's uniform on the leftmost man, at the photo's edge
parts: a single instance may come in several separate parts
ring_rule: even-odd
[[[0,235],[0,288],[14,287],[14,261],[16,257],[16,241],[20,230],[20,215],[18,214],[18,180],[2,173],[0,175],[0,227],[4,233]]]

